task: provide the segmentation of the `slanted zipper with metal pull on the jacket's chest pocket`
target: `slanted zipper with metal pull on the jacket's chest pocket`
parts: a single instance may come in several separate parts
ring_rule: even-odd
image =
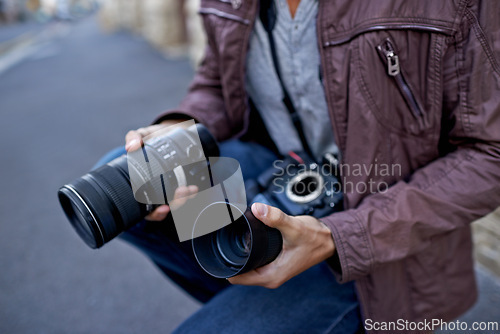
[[[406,81],[403,72],[401,71],[401,65],[399,62],[399,56],[394,47],[394,43],[390,38],[386,38],[382,43],[377,45],[377,51],[380,55],[380,59],[387,67],[387,75],[392,77],[398,86],[401,95],[405,99],[406,104],[416,118],[422,117],[422,110],[420,105],[415,98],[408,82]]]

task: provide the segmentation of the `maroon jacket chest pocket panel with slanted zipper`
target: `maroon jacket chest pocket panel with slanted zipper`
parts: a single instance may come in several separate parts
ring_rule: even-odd
[[[349,105],[359,105],[356,109],[401,135],[435,132],[442,80],[439,36],[421,30],[367,30],[339,45],[337,49],[352,57],[346,77],[349,94],[363,98],[349,96]],[[369,116],[357,115],[353,108],[349,117]]]

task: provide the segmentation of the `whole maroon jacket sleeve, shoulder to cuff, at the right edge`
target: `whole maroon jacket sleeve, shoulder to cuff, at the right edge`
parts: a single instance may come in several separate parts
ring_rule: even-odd
[[[500,205],[499,12],[496,1],[485,1],[480,11],[466,9],[444,58],[442,136],[454,149],[409,180],[322,219],[332,230],[341,282],[412,256],[433,236]]]

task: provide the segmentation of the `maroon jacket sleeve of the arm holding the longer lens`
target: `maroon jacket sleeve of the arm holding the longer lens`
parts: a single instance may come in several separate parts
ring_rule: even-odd
[[[231,137],[232,127],[224,104],[214,31],[209,22],[204,24],[208,41],[188,94],[177,109],[162,113],[153,123],[173,118],[193,118],[205,125],[216,139],[223,140]]]

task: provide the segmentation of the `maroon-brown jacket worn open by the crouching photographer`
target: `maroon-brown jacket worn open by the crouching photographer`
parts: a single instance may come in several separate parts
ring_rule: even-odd
[[[246,132],[257,12],[258,0],[202,0],[205,58],[159,120],[188,115],[219,140]],[[500,1],[320,0],[317,31],[343,181],[390,185],[346,188],[347,210],[323,219],[338,279],[356,281],[365,319],[451,320],[476,300],[469,224],[500,204]]]

